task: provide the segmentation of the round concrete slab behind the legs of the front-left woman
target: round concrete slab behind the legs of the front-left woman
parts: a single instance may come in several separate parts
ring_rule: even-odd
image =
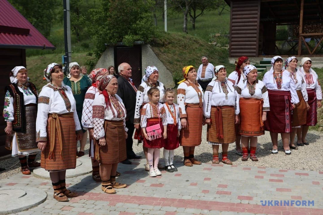
[[[75,169],[66,170],[66,178],[73,178],[90,172],[92,172],[91,159],[85,155],[77,158]],[[50,179],[48,171],[41,167],[35,168],[33,174],[39,178]]]

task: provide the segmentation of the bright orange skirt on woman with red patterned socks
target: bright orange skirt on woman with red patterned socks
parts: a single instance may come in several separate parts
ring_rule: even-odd
[[[263,100],[255,98],[240,98],[239,133],[243,136],[260,136],[265,134],[262,122]]]

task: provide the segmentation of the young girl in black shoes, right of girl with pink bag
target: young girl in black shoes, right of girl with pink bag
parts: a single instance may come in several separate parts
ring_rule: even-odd
[[[164,145],[164,158],[165,158],[165,170],[168,172],[177,171],[174,166],[174,149],[180,146],[179,136],[182,128],[180,121],[179,107],[173,103],[175,99],[175,92],[173,88],[168,88],[165,91],[166,103],[164,108],[166,110],[167,118],[167,139]]]

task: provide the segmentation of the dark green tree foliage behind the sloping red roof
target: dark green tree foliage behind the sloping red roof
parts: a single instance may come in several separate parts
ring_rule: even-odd
[[[49,37],[50,29],[56,17],[58,0],[9,0],[21,15],[23,15],[45,37]]]

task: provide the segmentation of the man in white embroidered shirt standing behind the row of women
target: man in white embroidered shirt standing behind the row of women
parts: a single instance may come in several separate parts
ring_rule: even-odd
[[[202,57],[202,64],[197,70],[197,82],[201,85],[203,91],[205,91],[207,85],[212,81],[214,77],[214,65],[209,63],[206,56]]]

